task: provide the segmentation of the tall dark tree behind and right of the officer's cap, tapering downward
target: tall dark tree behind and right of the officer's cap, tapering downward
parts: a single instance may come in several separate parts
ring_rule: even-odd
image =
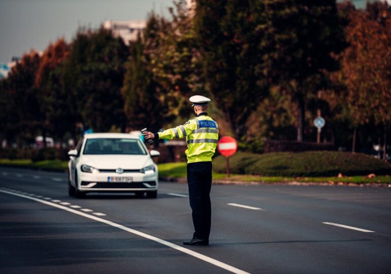
[[[267,95],[258,66],[263,57],[261,1],[198,1],[195,38],[201,53],[206,88],[238,139],[246,121]]]

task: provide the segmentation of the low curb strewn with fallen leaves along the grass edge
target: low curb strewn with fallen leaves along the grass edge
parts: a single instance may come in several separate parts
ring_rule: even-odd
[[[186,178],[174,177],[159,177],[159,180],[187,184]],[[349,186],[349,187],[384,187],[391,188],[391,184],[379,183],[348,183],[348,182],[262,182],[262,181],[231,181],[231,180],[212,180],[212,184],[216,185],[283,185],[283,186]]]

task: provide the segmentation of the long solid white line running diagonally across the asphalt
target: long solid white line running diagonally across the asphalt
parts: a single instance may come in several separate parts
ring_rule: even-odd
[[[111,221],[108,221],[108,220],[105,220],[105,219],[102,219],[102,218],[99,218],[99,217],[95,217],[95,216],[92,216],[92,215],[89,215],[89,214],[86,214],[84,212],[80,212],[80,211],[77,211],[77,210],[73,210],[73,209],[70,209],[68,207],[64,207],[63,205],[59,205],[57,203],[53,203],[53,202],[49,202],[49,201],[45,201],[45,200],[42,200],[42,199],[38,199],[38,198],[34,198],[34,197],[29,197],[29,196],[25,196],[25,195],[22,195],[22,194],[18,194],[18,193],[13,193],[11,191],[6,191],[6,190],[1,190],[0,189],[0,192],[3,192],[3,193],[7,193],[7,194],[11,194],[11,195],[15,195],[15,196],[19,196],[19,197],[22,197],[22,198],[26,198],[26,199],[31,199],[31,200],[35,200],[35,201],[38,201],[38,202],[41,202],[41,203],[44,203],[44,204],[47,204],[47,205],[50,205],[51,207],[55,207],[57,209],[61,209],[61,210],[65,210],[65,211],[68,211],[68,212],[71,212],[71,213],[74,213],[74,214],[77,214],[79,216],[83,216],[83,217],[86,217],[86,218],[89,218],[89,219],[92,219],[92,220],[95,220],[95,221],[98,221],[98,222],[102,222],[102,223],[105,223],[107,225],[111,225],[111,226],[114,226],[114,227],[117,227],[119,229],[122,229],[122,230],[125,230],[127,232],[130,232],[130,233],[133,233],[133,234],[136,234],[136,235],[139,235],[141,237],[144,237],[144,238],[147,238],[147,239],[150,239],[152,241],[155,241],[159,244],[162,244],[162,245],[165,245],[165,246],[168,246],[170,248],[173,248],[173,249],[176,249],[180,252],[183,252],[183,253],[186,253],[190,256],[193,256],[193,257],[196,257],[200,260],[203,260],[203,261],[206,261],[206,262],[209,262],[213,265],[216,265],[220,268],[223,268],[225,270],[228,270],[228,271],[231,271],[233,273],[237,273],[237,274],[249,274],[248,272],[246,271],[243,271],[239,268],[236,268],[232,265],[229,265],[229,264],[226,264],[226,263],[223,263],[223,262],[220,262],[218,260],[215,260],[211,257],[208,257],[208,256],[205,256],[201,253],[198,253],[198,252],[195,252],[195,251],[192,251],[190,249],[187,249],[187,248],[184,248],[184,247],[181,247],[181,246],[178,246],[178,245],[175,245],[173,243],[170,243],[168,241],[165,241],[164,239],[160,239],[160,238],[157,238],[155,236],[151,236],[149,234],[146,234],[146,233],[143,233],[143,232],[140,232],[138,230],[135,230],[135,229],[132,229],[132,228],[129,228],[129,227],[126,227],[126,226],[123,226],[123,225],[120,225],[120,224],[117,224],[117,223],[114,223],[114,222],[111,222]]]

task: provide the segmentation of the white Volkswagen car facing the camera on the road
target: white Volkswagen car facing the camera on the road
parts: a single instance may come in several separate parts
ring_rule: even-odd
[[[85,134],[68,152],[68,193],[78,198],[88,192],[134,192],[157,197],[158,172],[144,143],[126,133]]]

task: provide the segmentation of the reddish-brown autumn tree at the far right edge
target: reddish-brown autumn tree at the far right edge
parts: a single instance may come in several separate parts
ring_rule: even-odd
[[[386,3],[369,4],[367,11],[342,8],[350,18],[349,47],[337,56],[341,71],[334,79],[347,88],[343,99],[354,127],[352,150],[357,126],[374,123],[383,129],[385,155],[391,120],[391,9]]]

